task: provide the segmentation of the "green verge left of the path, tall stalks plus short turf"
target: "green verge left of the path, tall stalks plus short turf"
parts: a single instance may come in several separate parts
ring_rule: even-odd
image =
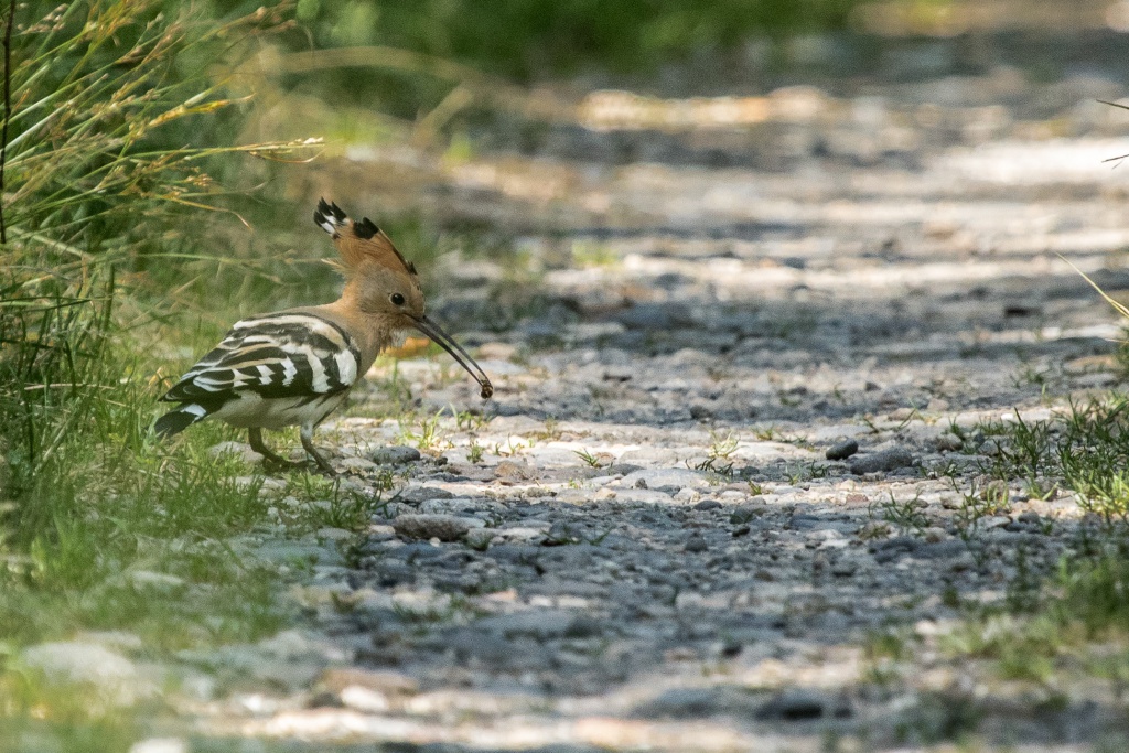
[[[224,205],[230,176],[306,146],[238,143],[246,99],[228,80],[286,28],[288,9],[196,9],[17,7],[0,245],[0,645],[130,621],[184,645],[209,639],[203,613],[226,625],[211,638],[274,619],[251,570],[201,553],[264,511],[256,483],[235,482],[237,464],[207,455],[221,429],[175,455],[149,434],[160,387],[149,350],[167,308],[152,290],[184,284],[201,263],[187,249],[229,217],[208,210]],[[131,585],[138,569],[220,590],[201,592],[215,604],[151,598]],[[231,616],[236,604],[247,614]]]

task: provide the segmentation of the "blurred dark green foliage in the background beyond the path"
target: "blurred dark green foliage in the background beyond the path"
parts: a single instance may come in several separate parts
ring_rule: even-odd
[[[751,36],[841,28],[858,0],[298,0],[315,47],[390,45],[498,76],[654,69]],[[233,9],[236,6],[233,5]]]

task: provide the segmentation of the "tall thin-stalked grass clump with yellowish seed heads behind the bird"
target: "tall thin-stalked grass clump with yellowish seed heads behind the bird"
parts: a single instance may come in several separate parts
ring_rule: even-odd
[[[0,496],[9,500],[65,472],[64,444],[91,439],[94,405],[122,376],[110,366],[115,306],[155,260],[170,264],[163,256],[186,210],[221,192],[209,168],[224,169],[234,152],[286,148],[226,143],[235,103],[209,71],[280,18],[211,23],[180,8],[17,9],[0,251]]]

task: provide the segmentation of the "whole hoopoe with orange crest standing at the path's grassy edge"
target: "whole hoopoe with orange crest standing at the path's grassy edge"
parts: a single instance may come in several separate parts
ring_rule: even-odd
[[[263,444],[263,429],[300,427],[301,446],[318,467],[333,467],[314,447],[314,429],[349,395],[377,353],[404,330],[438,343],[479,383],[482,368],[427,316],[415,266],[367,217],[355,222],[322,199],[314,221],[333,237],[345,274],[332,304],[291,308],[236,322],[216,348],[160,399],[180,403],[154,424],[164,438],[215,417],[247,430],[251,447],[278,466],[291,465]]]

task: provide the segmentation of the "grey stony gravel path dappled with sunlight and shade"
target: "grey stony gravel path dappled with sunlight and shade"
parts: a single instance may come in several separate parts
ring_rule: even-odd
[[[736,128],[605,95],[593,128],[483,126],[520,147],[470,160],[355,150],[352,203],[513,240],[431,270],[496,397],[404,359],[423,415],[470,413],[376,421],[374,389],[326,426],[344,488],[393,467],[393,501],[361,534],[238,542],[316,561],[290,575],[307,618],[184,657],[212,683],[199,728],[397,751],[920,750],[972,713],[984,750],[1123,733],[1106,690],[1041,707],[935,649],[1077,525],[1073,494],[983,476],[977,427],[1119,379],[1120,325],[1071,264],[1129,288],[1129,172],[1101,164],[1129,114],[1094,102],[1124,75],[942,73],[779,89]]]

